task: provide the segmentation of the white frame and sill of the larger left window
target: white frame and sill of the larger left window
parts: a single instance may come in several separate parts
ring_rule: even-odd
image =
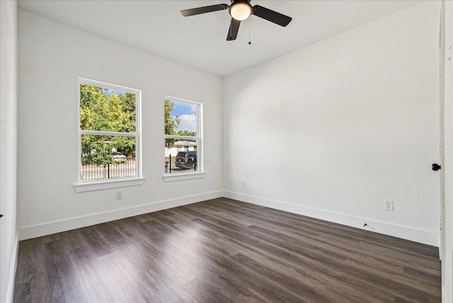
[[[125,91],[134,93],[135,99],[135,133],[130,132],[102,132],[96,130],[80,129],[80,84],[98,86],[111,90]],[[101,81],[78,78],[77,82],[77,182],[74,184],[76,192],[85,192],[90,190],[103,190],[108,188],[120,188],[127,186],[142,185],[142,91],[136,88],[109,84]],[[135,176],[127,178],[102,179],[97,181],[81,180],[81,135],[121,135],[125,137],[135,137]]]

